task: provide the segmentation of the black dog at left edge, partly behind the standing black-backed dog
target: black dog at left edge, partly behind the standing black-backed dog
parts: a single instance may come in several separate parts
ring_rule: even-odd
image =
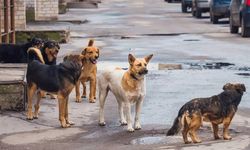
[[[34,50],[35,48],[35,50]],[[38,52],[37,50],[40,50]],[[43,41],[33,38],[26,44],[0,44],[1,63],[28,63],[39,58],[41,53],[45,64],[55,65],[60,46],[53,40]]]

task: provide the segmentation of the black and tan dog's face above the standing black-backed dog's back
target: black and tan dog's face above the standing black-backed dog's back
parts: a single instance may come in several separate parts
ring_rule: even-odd
[[[49,40],[44,43],[44,51],[51,62],[57,58],[57,54],[60,50],[59,43],[54,40]]]

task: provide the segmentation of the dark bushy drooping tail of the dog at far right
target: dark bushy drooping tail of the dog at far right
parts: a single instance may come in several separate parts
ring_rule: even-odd
[[[179,110],[178,116],[175,118],[172,127],[168,130],[167,136],[175,135],[181,130],[182,125],[184,123],[184,119],[185,119],[184,114],[185,114],[185,110],[184,110],[184,107],[182,107]]]

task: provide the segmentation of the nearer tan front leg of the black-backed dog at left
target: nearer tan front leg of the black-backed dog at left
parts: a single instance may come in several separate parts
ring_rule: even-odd
[[[66,100],[62,94],[58,94],[57,97],[58,97],[58,104],[59,104],[59,121],[63,128],[67,128],[70,125],[67,124],[66,119],[65,119]]]

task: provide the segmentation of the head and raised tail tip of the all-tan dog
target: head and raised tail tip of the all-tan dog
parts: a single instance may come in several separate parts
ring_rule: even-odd
[[[92,64],[97,63],[97,59],[99,58],[99,55],[100,55],[100,50],[99,48],[94,46],[93,39],[89,40],[88,47],[86,47],[82,51],[82,55],[84,55],[86,60],[90,61]]]

